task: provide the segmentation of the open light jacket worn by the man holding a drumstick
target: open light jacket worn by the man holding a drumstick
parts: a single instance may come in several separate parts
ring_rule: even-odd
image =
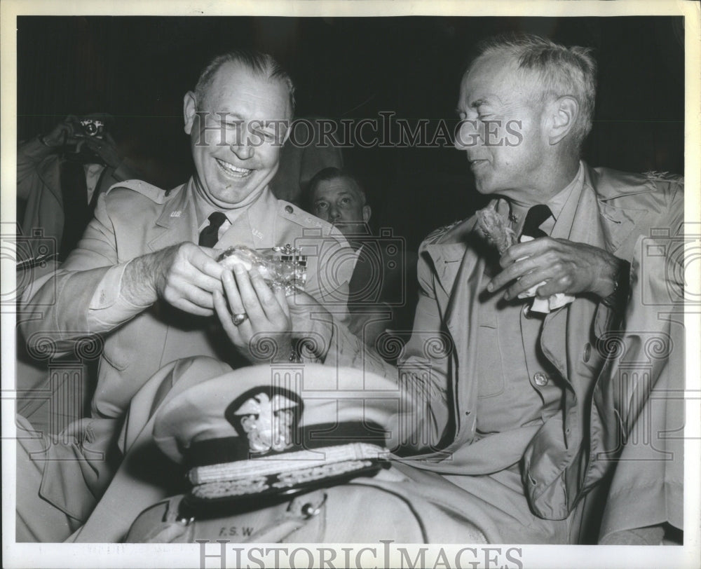
[[[630,280],[639,282],[649,276],[642,258],[645,238],[660,227],[672,228],[669,231],[674,233],[683,221],[682,187],[678,179],[662,174],[627,174],[585,165],[571,231],[558,234],[554,230],[551,236],[587,243],[630,261]],[[421,380],[417,383],[429,402],[421,428],[434,450],[419,455],[413,464],[444,474],[479,475],[521,462],[524,493],[533,512],[545,519],[564,519],[582,495],[610,471],[611,457],[620,453],[620,429],[632,424],[639,412],[613,386],[611,374],[618,360],[611,360],[605,339],[615,315],[588,295],[579,295],[573,303],[548,314],[540,345],[564,379],[561,411],[540,427],[480,439],[475,427],[479,382],[475,369],[484,352],[480,350],[475,295],[488,277],[473,240],[474,226],[473,216],[436,231],[419,250],[422,294],[414,335],[400,369],[404,377]],[[656,277],[658,283],[668,278],[674,278],[674,271]],[[664,285],[658,286],[651,294],[665,296],[665,290]],[[635,348],[634,335],[638,330],[660,329],[657,311],[651,310],[649,301],[630,301],[627,312],[635,329],[618,335],[640,351]],[[435,357],[436,350],[432,354],[427,349],[431,345],[428,336],[435,336],[434,344],[444,345],[440,357]],[[655,362],[653,384],[664,363],[659,358]],[[626,418],[625,424],[621,417]]]

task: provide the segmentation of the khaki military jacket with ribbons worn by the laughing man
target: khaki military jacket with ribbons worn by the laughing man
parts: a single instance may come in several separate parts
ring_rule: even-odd
[[[45,338],[61,352],[73,349],[76,338],[97,339],[101,353],[93,416],[121,416],[147,379],[175,359],[209,355],[233,366],[245,364],[216,317],[182,313],[163,301],[132,306],[119,294],[131,259],[198,241],[192,186],[192,179],[170,191],[138,180],[112,186],[98,200],[78,247],[55,273],[25,291],[22,329],[30,346]],[[270,249],[287,243],[307,256],[306,291],[345,321],[353,263],[334,265],[329,259],[353,251],[325,221],[277,200],[266,188],[216,247]]]

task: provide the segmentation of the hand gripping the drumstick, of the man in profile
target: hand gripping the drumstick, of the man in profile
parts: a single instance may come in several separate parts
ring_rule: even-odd
[[[621,261],[611,253],[566,239],[541,237],[512,245],[499,263],[503,267],[487,285],[494,292],[511,283],[504,299],[515,299],[539,282],[536,295],[547,299],[557,292],[590,292],[606,298],[615,288],[615,275]]]

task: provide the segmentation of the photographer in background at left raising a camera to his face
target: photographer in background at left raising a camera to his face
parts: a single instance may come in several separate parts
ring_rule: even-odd
[[[18,292],[62,263],[76,247],[93,217],[97,196],[118,181],[143,177],[132,161],[121,156],[110,134],[112,123],[106,114],[69,115],[45,135],[18,146]],[[46,363],[37,361],[23,340],[18,341],[18,366],[20,390],[31,394],[45,387]],[[83,385],[83,393],[87,392]],[[37,429],[50,431],[46,399],[21,399],[18,411]]]

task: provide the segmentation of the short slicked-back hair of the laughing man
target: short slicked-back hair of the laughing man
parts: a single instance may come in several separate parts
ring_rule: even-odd
[[[290,110],[294,116],[294,83],[292,83],[292,78],[272,55],[253,50],[233,50],[217,55],[207,64],[207,67],[200,73],[197,85],[195,85],[198,106],[205,100],[207,89],[212,85],[219,68],[227,63],[238,63],[257,76],[281,81],[287,87],[287,92],[290,95]]]

